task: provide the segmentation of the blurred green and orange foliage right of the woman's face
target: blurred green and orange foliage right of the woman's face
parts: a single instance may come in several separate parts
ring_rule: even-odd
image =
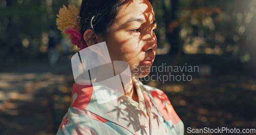
[[[225,55],[256,63],[256,1],[162,0],[155,2],[159,44],[170,54]]]

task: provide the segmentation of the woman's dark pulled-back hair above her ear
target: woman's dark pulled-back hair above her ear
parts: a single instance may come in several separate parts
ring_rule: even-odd
[[[92,29],[95,34],[105,38],[120,5],[120,0],[83,0],[79,14],[81,33]]]

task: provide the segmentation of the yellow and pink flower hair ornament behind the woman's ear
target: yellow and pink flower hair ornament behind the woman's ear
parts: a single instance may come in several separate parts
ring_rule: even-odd
[[[84,42],[80,28],[80,9],[75,5],[69,5],[68,8],[63,5],[59,10],[56,19],[57,28],[62,34],[70,36],[72,44],[76,45],[80,50],[87,47]]]

